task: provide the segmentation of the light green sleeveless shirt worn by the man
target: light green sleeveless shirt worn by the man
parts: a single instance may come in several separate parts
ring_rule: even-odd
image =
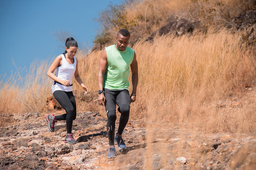
[[[105,49],[107,52],[107,67],[103,88],[111,90],[128,89],[129,67],[133,62],[134,50],[127,46],[125,51],[119,51],[115,45],[110,45]]]

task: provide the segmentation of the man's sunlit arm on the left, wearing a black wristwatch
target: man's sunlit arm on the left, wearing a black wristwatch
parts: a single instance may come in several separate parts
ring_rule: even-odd
[[[98,71],[98,87],[99,90],[103,90],[103,80],[104,80],[104,74],[107,67],[107,52],[106,49],[104,49],[100,56],[99,61],[99,71]],[[98,102],[100,105],[104,105],[105,102],[105,96],[104,93],[100,93],[98,97]]]

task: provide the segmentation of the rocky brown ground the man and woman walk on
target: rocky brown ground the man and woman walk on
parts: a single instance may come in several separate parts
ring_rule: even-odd
[[[106,117],[98,112],[77,113],[73,134],[78,143],[74,145],[63,142],[64,121],[50,132],[45,113],[13,117],[15,125],[0,128],[1,170],[256,169],[256,136],[248,134],[203,133],[130,120],[123,133],[127,149],[120,151],[116,146],[117,156],[108,159]]]

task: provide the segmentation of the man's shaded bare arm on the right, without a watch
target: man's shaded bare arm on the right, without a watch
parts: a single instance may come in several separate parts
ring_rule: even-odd
[[[131,94],[131,102],[135,102],[136,93],[137,93],[137,85],[138,85],[138,81],[139,81],[138,62],[136,59],[135,52],[134,52],[133,62],[131,64],[131,70],[132,70],[132,83],[133,83],[133,92]]]

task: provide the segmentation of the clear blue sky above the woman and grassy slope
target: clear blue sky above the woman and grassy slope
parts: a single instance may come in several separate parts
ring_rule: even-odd
[[[53,59],[65,51],[57,32],[66,32],[78,46],[91,48],[101,29],[96,21],[99,13],[122,1],[0,0],[0,78],[17,70],[22,75],[34,60]]]

